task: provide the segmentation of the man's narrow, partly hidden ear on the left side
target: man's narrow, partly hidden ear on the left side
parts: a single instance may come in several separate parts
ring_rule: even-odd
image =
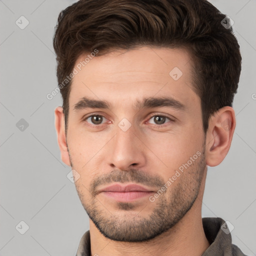
[[[65,136],[65,119],[63,108],[58,106],[55,108],[55,129],[57,132],[58,146],[60,149],[61,160],[70,166],[70,159],[67,151],[66,136]]]

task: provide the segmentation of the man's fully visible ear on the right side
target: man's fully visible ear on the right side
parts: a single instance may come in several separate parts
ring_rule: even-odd
[[[216,166],[225,158],[233,137],[235,114],[231,106],[224,106],[209,119],[206,133],[206,164]]]

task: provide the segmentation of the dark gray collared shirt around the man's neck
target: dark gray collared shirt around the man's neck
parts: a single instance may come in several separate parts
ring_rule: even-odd
[[[201,256],[246,256],[236,245],[232,244],[231,234],[222,218],[202,218],[202,225],[210,246]],[[76,256],[90,256],[89,230],[83,234]]]

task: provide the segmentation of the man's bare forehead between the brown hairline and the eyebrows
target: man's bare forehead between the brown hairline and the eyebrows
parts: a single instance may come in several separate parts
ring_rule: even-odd
[[[185,49],[143,46],[88,55],[80,55],[75,62],[77,74],[72,78],[70,105],[83,96],[117,103],[156,94],[169,95],[184,105],[198,101],[192,90],[191,59]]]

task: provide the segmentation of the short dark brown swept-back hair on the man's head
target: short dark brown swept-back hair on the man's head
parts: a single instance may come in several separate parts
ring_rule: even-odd
[[[193,60],[193,89],[203,130],[211,114],[232,106],[241,71],[239,44],[226,16],[206,0],[79,0],[59,13],[53,47],[58,84],[80,54],[136,46],[185,47]],[[227,23],[229,24],[229,23]],[[65,131],[72,80],[60,87]]]

